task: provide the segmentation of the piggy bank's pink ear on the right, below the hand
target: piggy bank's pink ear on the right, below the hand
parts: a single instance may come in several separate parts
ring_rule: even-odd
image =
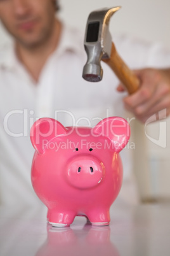
[[[105,136],[112,141],[112,148],[119,153],[128,143],[130,127],[128,122],[121,117],[108,117],[93,128],[94,136]]]

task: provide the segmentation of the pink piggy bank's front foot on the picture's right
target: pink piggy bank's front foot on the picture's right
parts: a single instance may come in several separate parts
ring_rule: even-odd
[[[92,225],[106,226],[110,223],[109,210],[95,209],[88,213],[89,221]]]

